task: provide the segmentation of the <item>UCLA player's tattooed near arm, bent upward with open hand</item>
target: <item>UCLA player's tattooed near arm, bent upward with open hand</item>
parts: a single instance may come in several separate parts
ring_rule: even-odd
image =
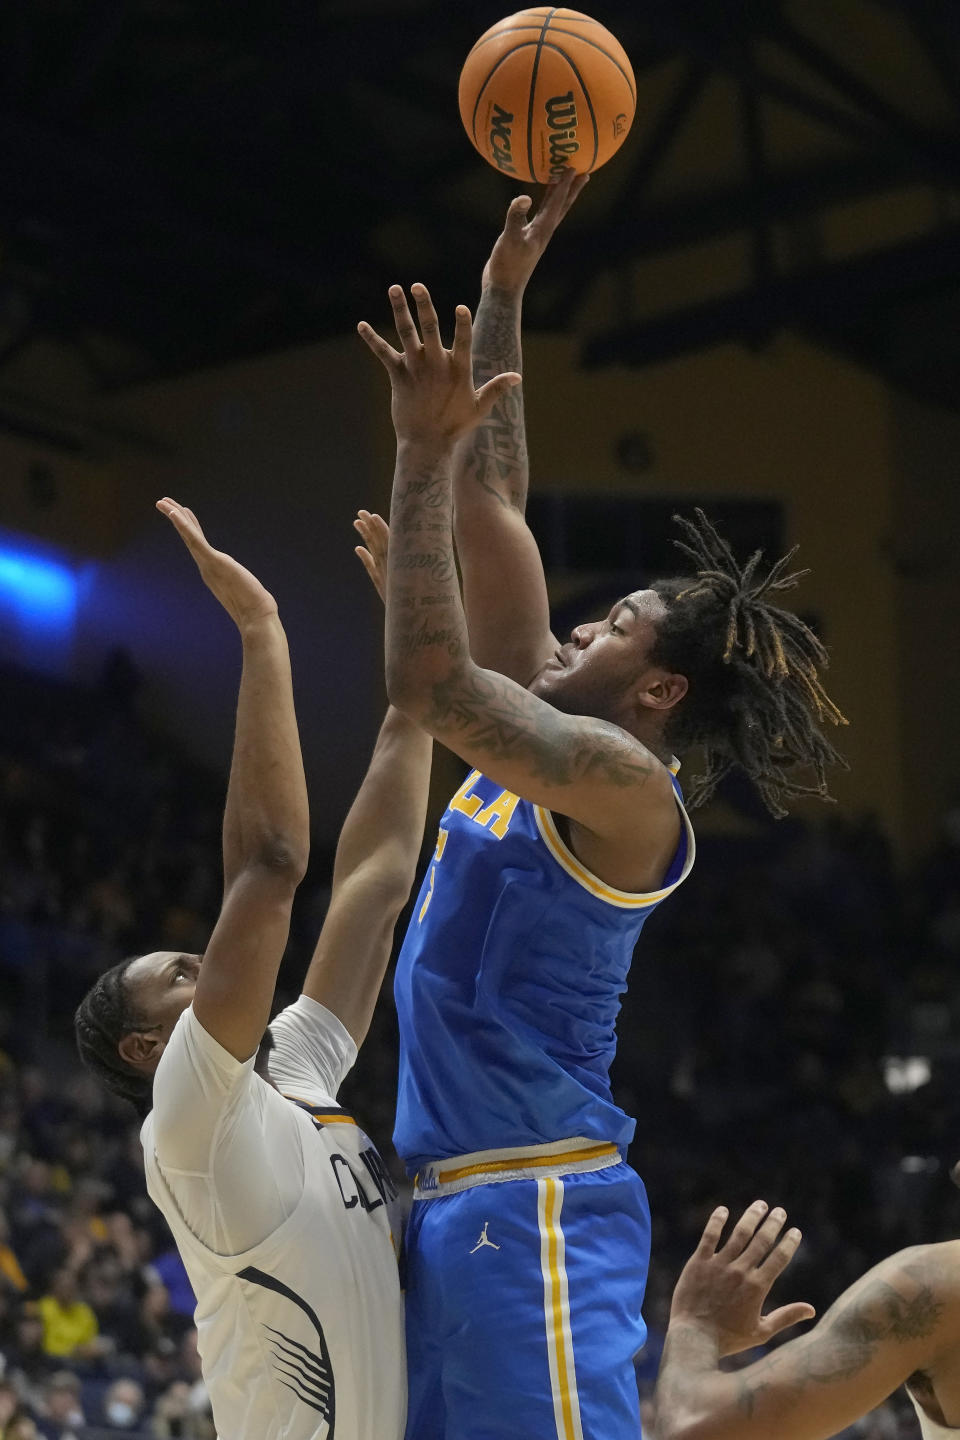
[[[387,693],[491,779],[597,835],[635,835],[649,827],[649,806],[659,806],[665,827],[674,827],[672,852],[679,822],[669,772],[639,740],[619,724],[564,714],[471,658],[453,563],[452,452],[518,376],[502,374],[475,390],[469,311],[458,308],[456,338],[445,350],[425,287],[415,285],[413,295],[423,341],[403,291],[390,291],[402,354],[370,325],[360,327],[390,374],[397,432]]]

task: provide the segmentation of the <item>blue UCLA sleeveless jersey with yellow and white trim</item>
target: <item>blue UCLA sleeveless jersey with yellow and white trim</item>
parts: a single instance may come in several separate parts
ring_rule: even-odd
[[[659,890],[592,876],[550,811],[474,770],[450,801],[400,950],[394,1143],[432,1159],[586,1136],[626,1146],[610,1093],[616,1017],[643,922],[689,873],[682,835]]]

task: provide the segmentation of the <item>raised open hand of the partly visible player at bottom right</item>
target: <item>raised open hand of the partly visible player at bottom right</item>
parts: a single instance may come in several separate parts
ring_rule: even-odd
[[[773,1282],[793,1260],[800,1231],[787,1230],[783,1210],[759,1200],[744,1211],[730,1238],[717,1250],[727,1211],[715,1210],[697,1250],[681,1272],[671,1305],[671,1325],[688,1323],[710,1331],[721,1355],[751,1349],[816,1313],[812,1305],[784,1305],[761,1315]]]

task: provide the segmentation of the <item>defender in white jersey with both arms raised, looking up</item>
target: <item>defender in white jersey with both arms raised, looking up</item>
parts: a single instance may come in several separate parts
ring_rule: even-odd
[[[101,976],[78,1009],[81,1054],[148,1112],[147,1188],[197,1295],[223,1440],[400,1440],[396,1189],[337,1093],[413,881],[430,740],[387,714],[304,992],[266,1030],[308,847],[286,644],[259,582],[207,544],[189,510],[160,508],[243,641],[225,899],[203,956],[154,952]],[[386,526],[366,511],[357,524],[383,595]]]

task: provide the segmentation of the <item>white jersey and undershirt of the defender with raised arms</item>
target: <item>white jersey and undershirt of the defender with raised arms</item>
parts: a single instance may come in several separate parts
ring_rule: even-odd
[[[154,1077],[147,1189],[197,1296],[223,1440],[402,1440],[396,1188],[337,1106],[357,1050],[301,996],[271,1025],[281,1094],[187,1008]]]

